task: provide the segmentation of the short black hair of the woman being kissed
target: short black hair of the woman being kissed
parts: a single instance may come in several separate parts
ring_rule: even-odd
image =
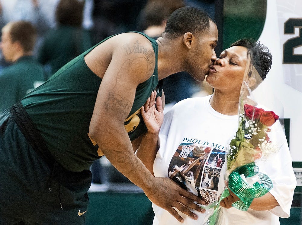
[[[233,46],[243,46],[248,49],[248,55],[251,56],[254,67],[258,71],[262,80],[264,80],[264,78],[266,78],[266,74],[271,69],[272,63],[272,55],[269,52],[268,48],[261,44],[259,41],[255,41],[249,38],[240,39],[231,44],[231,47]]]

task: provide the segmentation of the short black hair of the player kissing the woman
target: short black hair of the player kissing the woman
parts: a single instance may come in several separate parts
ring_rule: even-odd
[[[201,34],[210,29],[210,15],[200,8],[185,6],[176,9],[169,16],[165,32],[168,37],[176,38],[187,32],[193,35]]]

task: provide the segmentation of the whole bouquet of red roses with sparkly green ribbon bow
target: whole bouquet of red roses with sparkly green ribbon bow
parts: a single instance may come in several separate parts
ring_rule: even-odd
[[[270,141],[269,132],[278,116],[273,111],[244,104],[239,113],[239,126],[235,138],[230,141],[230,151],[227,155],[226,176],[228,188],[235,193],[239,200],[233,207],[246,211],[254,198],[265,195],[271,188],[272,182],[267,175],[259,172],[255,160],[265,159],[278,151],[278,146]],[[207,219],[206,225],[221,224],[222,211],[220,201],[230,195],[225,189],[220,200],[208,206],[213,212]]]

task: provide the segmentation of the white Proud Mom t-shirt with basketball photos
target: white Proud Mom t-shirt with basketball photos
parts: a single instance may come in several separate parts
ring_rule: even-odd
[[[173,177],[171,176],[172,179],[188,190],[192,189],[189,187],[188,180],[191,185],[193,180],[196,189],[193,193],[196,194],[197,191],[198,195],[207,201],[206,205],[216,201],[224,189],[225,150],[238,128],[238,116],[226,116],[216,112],[210,106],[210,97],[211,95],[182,100],[165,113],[159,133],[160,147],[153,165],[156,177],[169,177],[168,173],[172,174],[174,171]],[[280,206],[270,211],[252,209],[240,211],[233,207],[223,208],[226,224],[227,222],[230,224],[279,224],[279,217],[289,217],[296,179],[281,125],[277,121],[273,126],[277,127],[277,129],[274,127],[274,131],[278,130],[279,136],[280,134],[283,135],[283,140],[281,140],[283,145],[274,157],[265,162],[256,162],[256,165],[259,166],[259,172],[265,173],[271,178],[273,188],[270,193],[276,198]],[[271,138],[271,141],[274,141],[274,138]],[[217,165],[212,166],[213,158],[217,154],[223,160],[220,165],[222,168],[217,167]],[[198,157],[201,157],[200,160]],[[189,168],[194,161],[194,166]],[[180,171],[182,168],[188,168],[188,170]],[[176,171],[177,169],[179,171]],[[217,185],[210,187],[211,189],[201,187],[204,177],[208,176],[211,171],[213,171],[211,178],[213,181],[215,174],[215,176],[219,176],[218,189],[215,188]],[[186,179],[186,176],[190,179]],[[194,211],[198,215],[198,220],[193,220],[177,210],[178,214],[185,220],[184,223],[179,223],[168,211],[155,204],[153,204],[153,211],[155,213],[153,224],[169,225],[201,225],[207,214]]]

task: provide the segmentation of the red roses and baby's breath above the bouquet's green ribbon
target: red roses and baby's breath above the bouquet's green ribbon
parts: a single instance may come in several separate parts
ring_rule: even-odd
[[[242,110],[242,109],[241,109]],[[239,166],[275,153],[277,147],[269,139],[269,128],[279,116],[273,111],[244,104],[239,113],[239,126],[236,136],[230,142],[230,153],[227,155],[227,174]]]

